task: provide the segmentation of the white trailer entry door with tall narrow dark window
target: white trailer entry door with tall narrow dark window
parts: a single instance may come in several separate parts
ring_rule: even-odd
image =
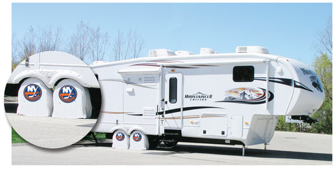
[[[165,78],[165,129],[182,129],[183,75],[181,73],[166,74]]]

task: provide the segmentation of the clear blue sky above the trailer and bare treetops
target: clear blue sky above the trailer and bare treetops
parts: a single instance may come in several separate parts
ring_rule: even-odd
[[[13,3],[12,33],[20,39],[30,26],[51,25],[67,38],[83,21],[112,40],[118,29],[137,31],[145,40],[143,57],[150,49],[228,53],[258,45],[310,65],[316,33],[331,15],[332,3]]]

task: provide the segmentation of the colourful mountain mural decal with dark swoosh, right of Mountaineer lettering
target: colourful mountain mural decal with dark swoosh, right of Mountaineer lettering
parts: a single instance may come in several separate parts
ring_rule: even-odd
[[[263,88],[233,88],[225,91],[225,98],[218,102],[231,102],[239,104],[263,104],[266,102],[266,90]],[[269,91],[269,102],[273,93]]]

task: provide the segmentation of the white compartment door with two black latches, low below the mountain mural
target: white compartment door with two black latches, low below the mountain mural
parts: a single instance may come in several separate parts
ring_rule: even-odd
[[[228,116],[218,113],[200,114],[200,132],[207,136],[227,136]]]

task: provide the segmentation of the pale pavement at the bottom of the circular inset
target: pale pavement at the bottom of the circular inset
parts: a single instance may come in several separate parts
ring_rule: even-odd
[[[6,113],[19,136],[33,145],[46,148],[66,147],[77,143],[93,128],[96,119],[31,117]]]

